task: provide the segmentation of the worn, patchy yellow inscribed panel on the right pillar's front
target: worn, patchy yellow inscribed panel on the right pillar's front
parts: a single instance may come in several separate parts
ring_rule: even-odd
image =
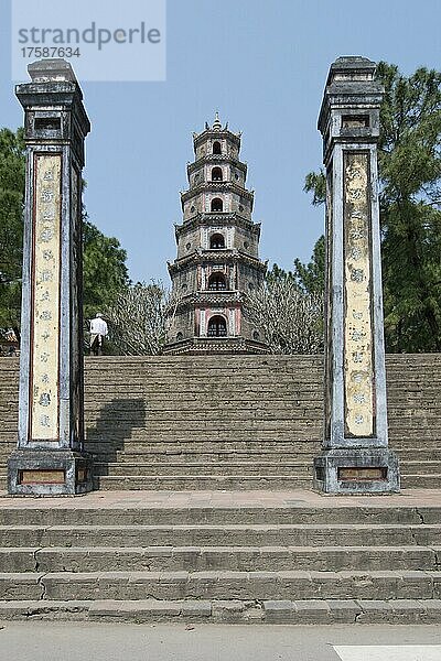
[[[368,154],[345,152],[345,433],[352,436],[372,436],[375,432],[369,224]]]

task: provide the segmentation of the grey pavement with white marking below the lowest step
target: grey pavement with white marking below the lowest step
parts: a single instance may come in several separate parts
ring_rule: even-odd
[[[439,661],[441,627],[3,622],[14,661]],[[387,646],[387,647],[384,647]]]

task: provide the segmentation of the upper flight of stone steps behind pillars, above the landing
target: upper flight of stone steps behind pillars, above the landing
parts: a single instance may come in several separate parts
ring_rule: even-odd
[[[441,486],[441,355],[387,357],[404,487]],[[86,358],[96,487],[309,488],[322,436],[321,356]],[[17,438],[18,360],[0,359],[0,486]]]

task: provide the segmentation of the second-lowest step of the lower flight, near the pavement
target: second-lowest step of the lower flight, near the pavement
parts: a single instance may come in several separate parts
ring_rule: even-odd
[[[441,572],[30,572],[0,574],[0,600],[440,599]]]

